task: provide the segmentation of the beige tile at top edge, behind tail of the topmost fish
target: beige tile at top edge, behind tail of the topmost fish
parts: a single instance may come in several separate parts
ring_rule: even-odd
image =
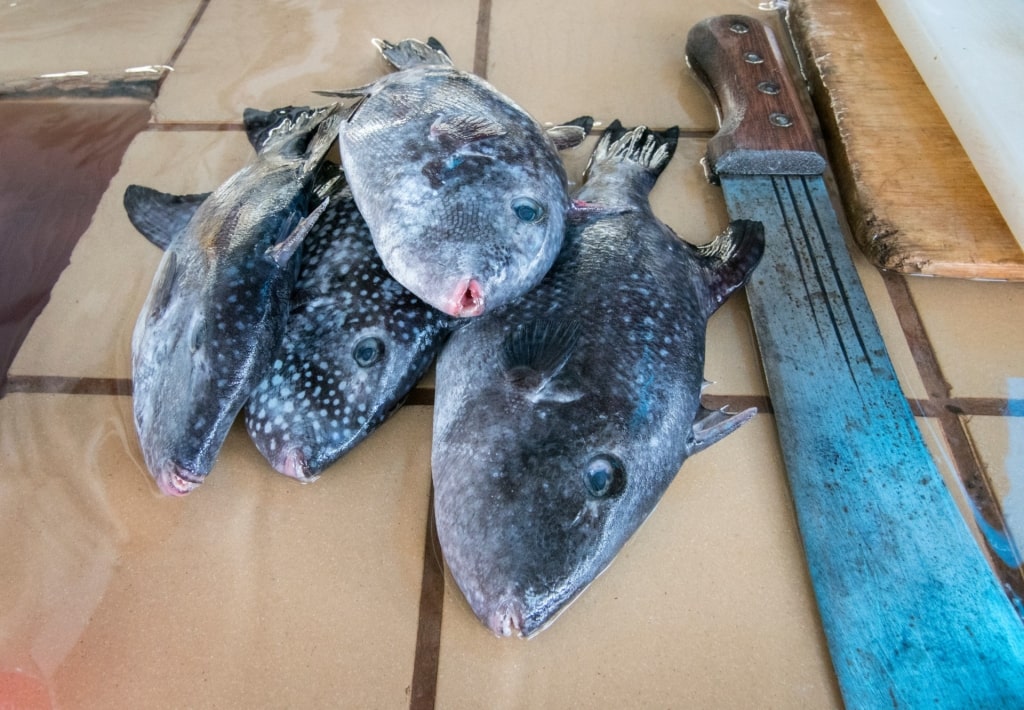
[[[326,103],[317,89],[360,86],[386,72],[374,37],[435,35],[473,68],[477,3],[375,0],[210,3],[156,103],[161,121],[236,121],[246,107]],[[240,22],[245,17],[245,22]]]

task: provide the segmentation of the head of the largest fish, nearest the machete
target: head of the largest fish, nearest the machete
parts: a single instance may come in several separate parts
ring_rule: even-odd
[[[467,423],[478,435],[435,429],[434,512],[444,560],[477,618],[498,636],[529,637],[646,518],[666,461],[629,422],[589,416],[585,400],[547,411],[509,404],[499,408],[504,424]]]

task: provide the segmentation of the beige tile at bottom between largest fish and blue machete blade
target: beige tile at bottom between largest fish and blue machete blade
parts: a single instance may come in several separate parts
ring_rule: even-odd
[[[772,418],[687,461],[535,638],[492,636],[449,577],[438,676],[453,708],[841,707]]]

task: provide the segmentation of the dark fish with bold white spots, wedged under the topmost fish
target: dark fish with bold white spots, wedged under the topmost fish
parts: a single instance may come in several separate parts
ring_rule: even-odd
[[[384,269],[339,181],[303,244],[281,346],[246,406],[256,447],[280,472],[314,481],[395,411],[451,323]]]

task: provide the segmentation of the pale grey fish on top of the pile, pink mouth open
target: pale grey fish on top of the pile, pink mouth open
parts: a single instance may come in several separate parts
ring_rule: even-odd
[[[586,131],[544,129],[434,38],[374,43],[396,72],[322,92],[354,99],[338,130],[352,197],[394,279],[450,316],[480,316],[554,262],[572,212],[558,151]]]

